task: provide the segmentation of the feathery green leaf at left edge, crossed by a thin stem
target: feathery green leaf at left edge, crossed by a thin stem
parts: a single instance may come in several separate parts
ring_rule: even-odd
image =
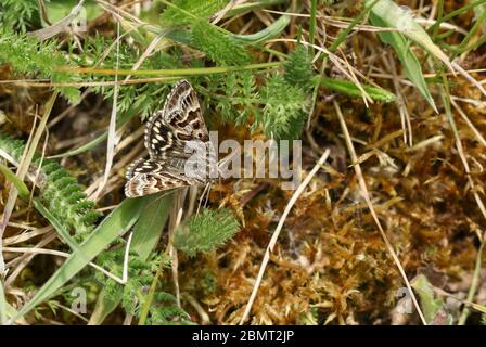
[[[24,143],[0,132],[0,149],[20,160],[24,153]],[[36,153],[30,171],[36,174],[41,164]],[[94,209],[94,203],[86,198],[82,187],[65,169],[53,160],[44,159],[38,183],[40,198],[49,211],[59,219],[66,230],[75,233],[75,239],[84,240],[94,228],[101,214]]]

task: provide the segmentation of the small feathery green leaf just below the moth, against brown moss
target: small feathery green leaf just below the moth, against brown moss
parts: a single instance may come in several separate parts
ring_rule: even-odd
[[[204,209],[176,230],[174,246],[193,257],[223,245],[239,230],[240,223],[229,209]]]

